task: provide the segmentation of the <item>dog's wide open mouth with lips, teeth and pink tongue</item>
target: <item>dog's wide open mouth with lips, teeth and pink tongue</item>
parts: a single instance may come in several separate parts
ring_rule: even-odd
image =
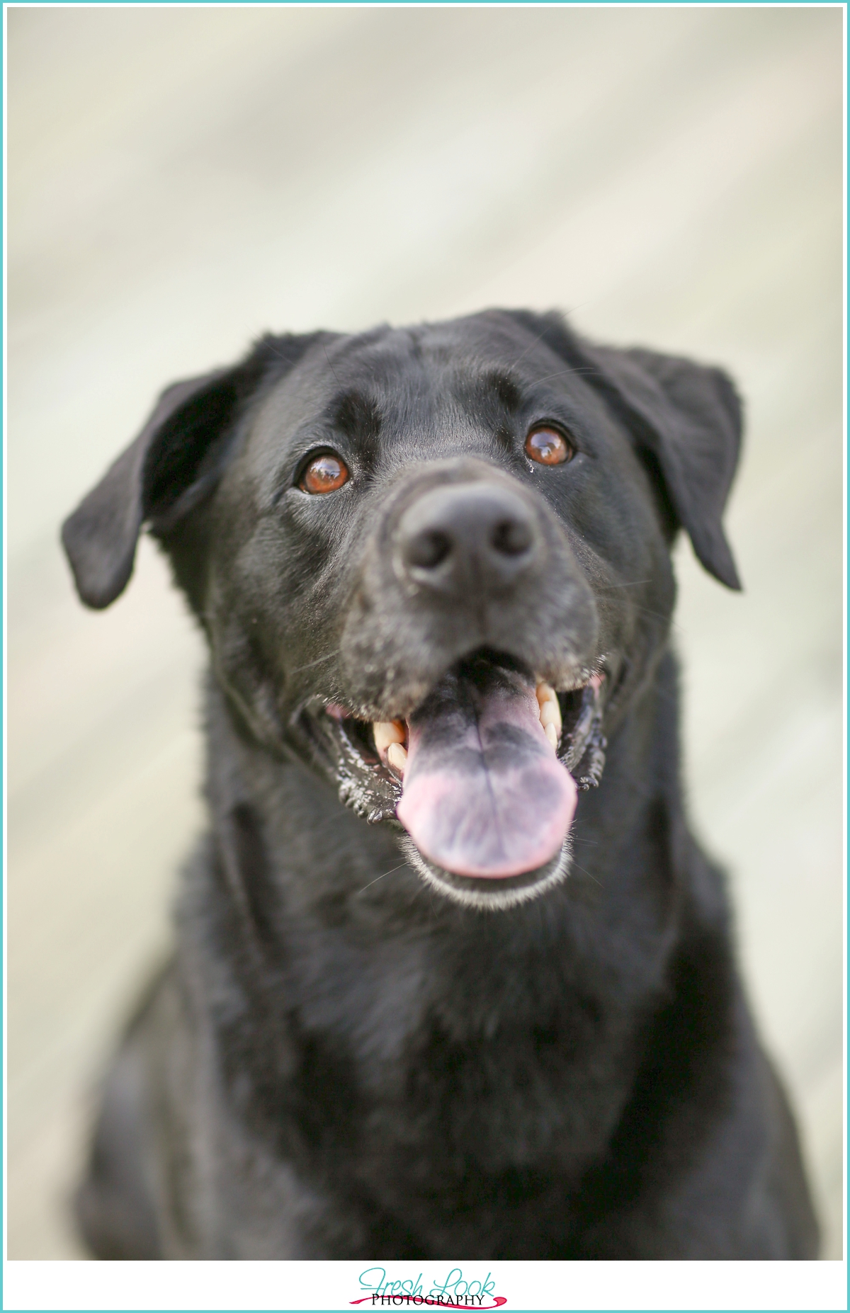
[[[332,750],[343,801],[403,827],[423,878],[461,902],[510,906],[568,869],[577,793],[604,765],[603,684],[594,674],[557,693],[483,650],[406,718],[363,721],[319,700],[305,714]]]

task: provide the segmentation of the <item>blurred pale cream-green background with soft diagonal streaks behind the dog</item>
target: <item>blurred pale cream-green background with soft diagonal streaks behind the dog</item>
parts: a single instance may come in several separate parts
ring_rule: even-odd
[[[8,1254],[85,1257],[93,1082],[202,825],[163,561],[64,515],[265,328],[485,306],[724,364],[745,592],[677,549],[694,825],[842,1245],[841,8],[8,11]]]

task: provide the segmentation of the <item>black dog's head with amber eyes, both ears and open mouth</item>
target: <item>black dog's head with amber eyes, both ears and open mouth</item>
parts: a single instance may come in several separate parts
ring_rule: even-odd
[[[740,429],[721,372],[557,315],[269,336],[167,389],[63,540],[106,607],[147,524],[244,733],[504,907],[566,869],[577,788],[665,647],[677,529],[738,587]]]

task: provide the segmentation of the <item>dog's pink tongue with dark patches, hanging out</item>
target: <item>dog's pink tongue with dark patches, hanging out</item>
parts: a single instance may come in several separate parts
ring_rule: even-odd
[[[536,871],[560,852],[575,801],[535,691],[512,671],[480,663],[448,675],[410,722],[397,815],[444,871],[486,880]]]

